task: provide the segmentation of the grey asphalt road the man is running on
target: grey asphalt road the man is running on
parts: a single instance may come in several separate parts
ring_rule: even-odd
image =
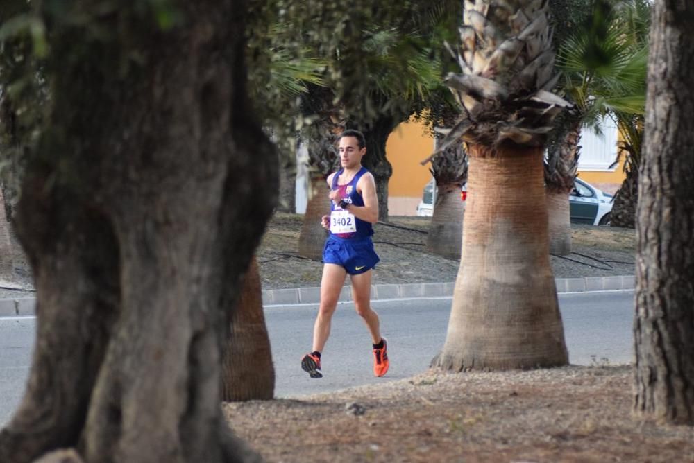
[[[559,295],[569,360],[574,365],[632,361],[634,292],[579,292]],[[276,396],[328,392],[408,378],[425,372],[446,337],[450,298],[375,301],[388,340],[391,369],[371,372],[371,342],[351,304],[341,304],[323,352],[321,379],[301,370],[310,349],[317,304],[266,308],[276,369]],[[0,318],[0,426],[22,398],[31,365],[35,318]]]

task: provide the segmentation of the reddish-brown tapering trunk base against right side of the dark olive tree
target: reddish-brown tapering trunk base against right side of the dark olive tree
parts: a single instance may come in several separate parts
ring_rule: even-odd
[[[255,256],[244,277],[239,305],[231,319],[222,366],[223,401],[269,400],[275,367],[262,309],[262,286]]]

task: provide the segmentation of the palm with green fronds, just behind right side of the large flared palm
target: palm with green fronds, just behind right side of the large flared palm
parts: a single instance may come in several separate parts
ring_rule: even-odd
[[[577,173],[582,128],[598,128],[599,122],[610,116],[621,133],[627,135],[632,132],[632,117],[643,114],[648,46],[645,40],[634,38],[645,35],[636,30],[641,23],[629,20],[633,15],[625,14],[643,14],[641,3],[642,0],[595,1],[587,21],[559,49],[559,83],[575,106],[561,119],[545,160],[553,254],[571,252],[568,195]],[[627,145],[636,146],[628,141]]]

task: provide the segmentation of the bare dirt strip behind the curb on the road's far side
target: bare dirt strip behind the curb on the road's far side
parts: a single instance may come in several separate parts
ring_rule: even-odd
[[[303,216],[276,213],[257,252],[264,289],[315,287],[321,284],[319,261],[298,256]],[[374,247],[380,263],[373,283],[455,281],[459,262],[426,250],[428,217],[393,217],[374,226]],[[573,254],[550,256],[557,278],[634,274],[633,229],[572,225]]]

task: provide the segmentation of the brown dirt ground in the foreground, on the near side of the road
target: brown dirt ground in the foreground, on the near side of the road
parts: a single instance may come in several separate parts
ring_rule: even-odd
[[[694,462],[693,428],[632,416],[625,365],[430,371],[223,410],[268,462]]]

